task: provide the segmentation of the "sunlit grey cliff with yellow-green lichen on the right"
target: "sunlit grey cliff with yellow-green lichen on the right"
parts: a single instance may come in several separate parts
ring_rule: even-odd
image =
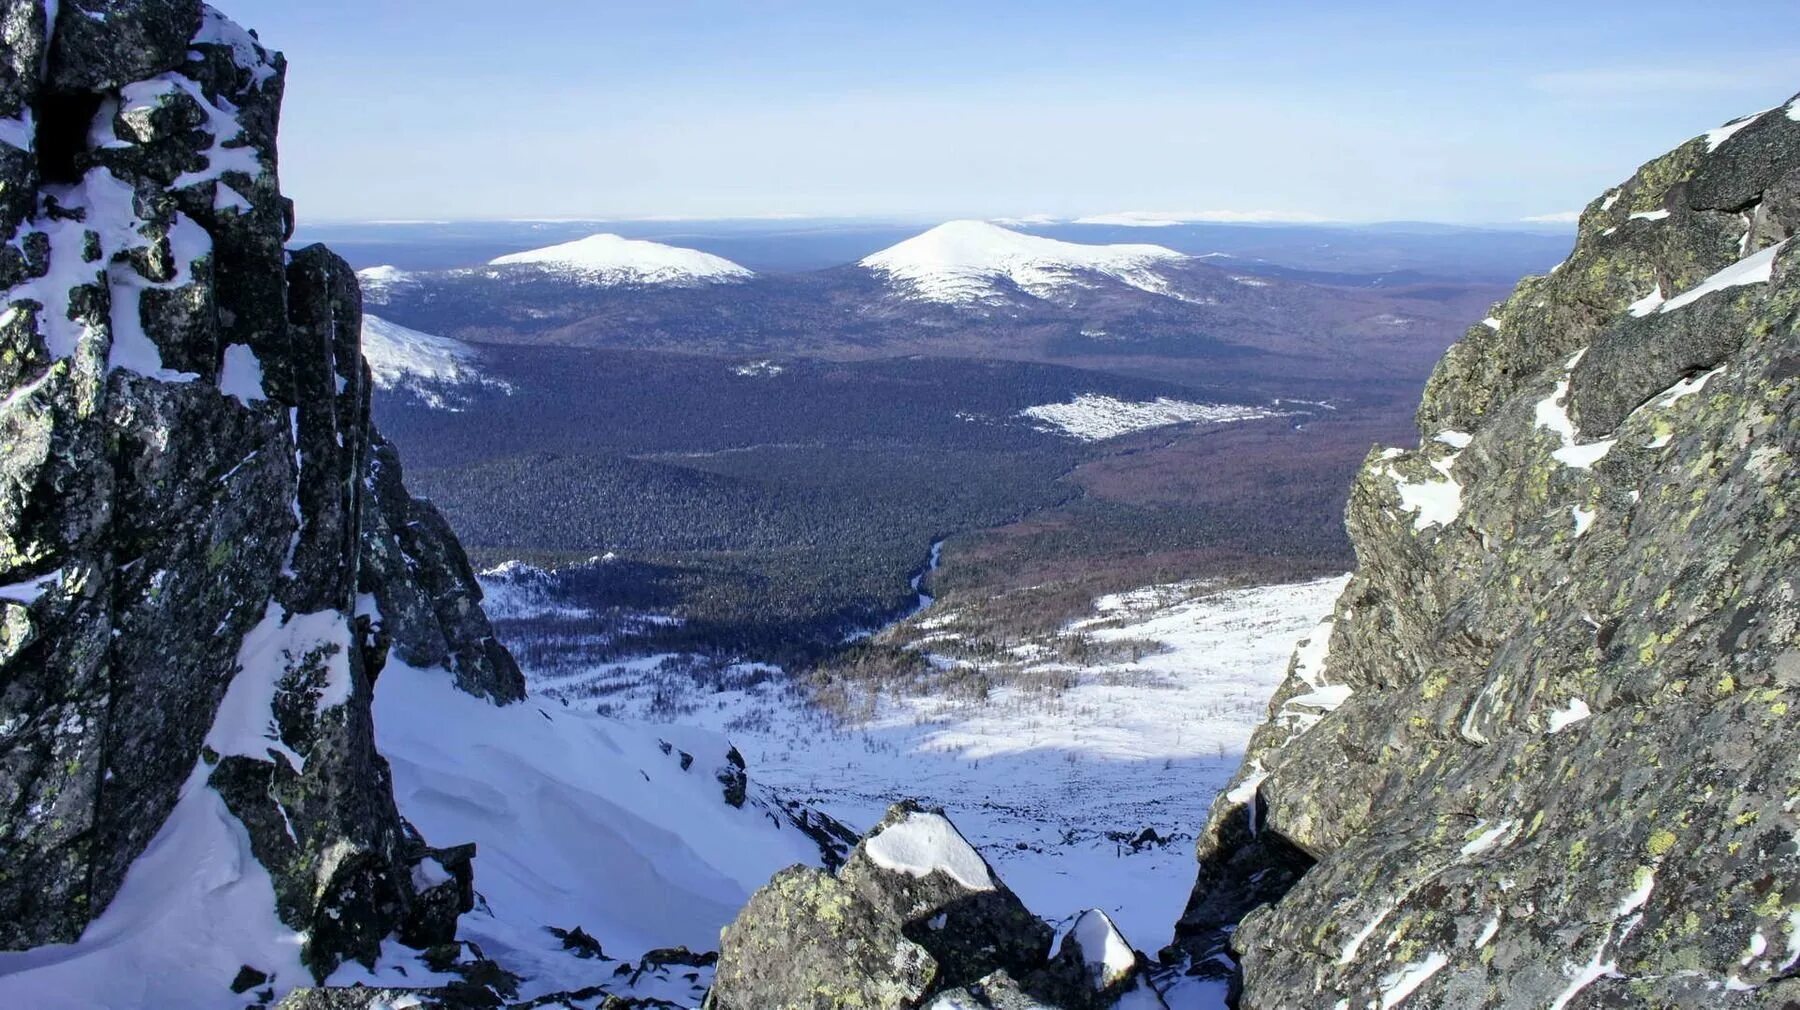
[[[1595,200],[1445,355],[1199,843],[1190,970],[1246,1008],[1800,1003],[1796,230],[1800,101]]]

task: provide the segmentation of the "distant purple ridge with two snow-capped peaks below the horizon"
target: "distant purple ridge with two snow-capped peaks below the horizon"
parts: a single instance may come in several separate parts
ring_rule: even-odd
[[[729,261],[711,263],[704,277],[659,266],[702,256],[590,236],[502,256],[500,266],[374,266],[360,279],[383,319],[477,344],[1087,365],[1280,355],[1280,367],[1321,378],[1390,374],[1395,362],[1422,374],[1458,320],[1503,293],[1402,274],[1258,272],[1228,254],[1067,241],[992,221],[949,221],[860,261],[801,274],[740,272]],[[635,274],[616,270],[630,257]]]

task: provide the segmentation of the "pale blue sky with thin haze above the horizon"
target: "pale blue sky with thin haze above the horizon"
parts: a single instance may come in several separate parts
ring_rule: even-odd
[[[313,221],[1505,223],[1800,92],[1793,0],[214,2]]]

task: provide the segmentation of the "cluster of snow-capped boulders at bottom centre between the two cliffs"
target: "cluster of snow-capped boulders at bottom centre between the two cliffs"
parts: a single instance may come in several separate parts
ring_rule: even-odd
[[[941,810],[898,803],[835,873],[794,866],[725,927],[713,1010],[1163,1006],[1102,911],[1053,931]]]

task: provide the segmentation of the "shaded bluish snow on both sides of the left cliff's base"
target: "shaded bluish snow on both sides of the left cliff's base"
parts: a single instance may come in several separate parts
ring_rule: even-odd
[[[391,657],[376,682],[374,733],[400,812],[430,839],[477,843],[482,900],[463,915],[459,938],[524,974],[527,999],[612,976],[612,965],[567,951],[545,927],[580,925],[621,960],[653,947],[711,951],[776,870],[819,862],[817,844],[756,785],[742,807],[727,803],[729,744],[704,729],[628,724],[538,699],[495,708],[459,691],[445,670]],[[238,1010],[250,999],[225,983],[239,965],[272,974],[277,994],[310,985],[302,938],[275,916],[270,877],[207,772],[196,763],[119,897],[77,943],[0,952],[0,1005]],[[389,942],[373,972],[346,963],[331,981],[450,981],[416,954]],[[617,987],[688,1005],[700,996],[679,972]]]

